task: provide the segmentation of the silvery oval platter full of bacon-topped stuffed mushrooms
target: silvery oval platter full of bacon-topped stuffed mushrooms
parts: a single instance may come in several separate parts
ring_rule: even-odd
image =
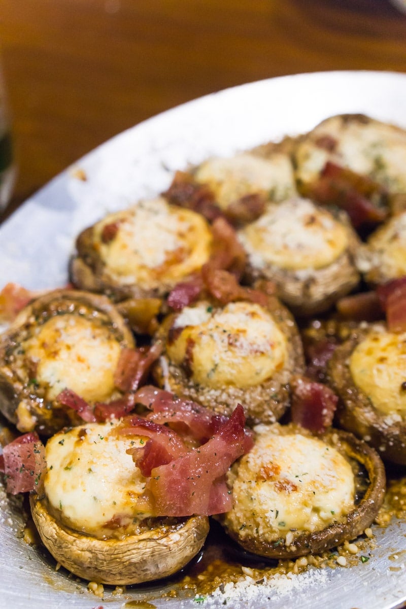
[[[405,107],[387,72],[222,91],[0,227],[7,606],[404,606]]]

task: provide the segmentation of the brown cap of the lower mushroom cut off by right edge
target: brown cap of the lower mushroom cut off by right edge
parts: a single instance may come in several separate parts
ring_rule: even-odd
[[[390,417],[380,414],[368,396],[355,386],[351,376],[349,357],[370,327],[354,332],[337,347],[327,365],[329,384],[340,397],[337,421],[376,448],[383,459],[406,465],[406,421],[391,421]]]

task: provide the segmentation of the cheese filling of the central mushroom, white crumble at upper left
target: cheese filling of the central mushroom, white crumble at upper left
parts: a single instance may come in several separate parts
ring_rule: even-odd
[[[212,311],[202,303],[177,317],[180,336],[167,345],[173,363],[187,363],[194,382],[206,387],[251,387],[284,367],[287,343],[275,320],[253,303],[229,303]]]

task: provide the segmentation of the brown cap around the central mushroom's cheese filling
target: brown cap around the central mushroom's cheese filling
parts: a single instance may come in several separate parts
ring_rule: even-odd
[[[195,384],[184,368],[170,362],[166,353],[157,362],[153,375],[159,387],[164,387],[184,398],[197,401],[218,414],[229,415],[237,403],[242,404],[248,424],[274,423],[290,405],[289,381],[293,374],[304,371],[304,358],[298,329],[290,312],[278,298],[268,297],[268,311],[287,339],[287,364],[273,378],[261,385],[241,389],[235,386],[211,389]],[[164,320],[158,337],[165,343],[176,314]]]

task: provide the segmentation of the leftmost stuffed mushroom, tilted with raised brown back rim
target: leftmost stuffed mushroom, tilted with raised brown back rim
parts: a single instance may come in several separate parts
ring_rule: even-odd
[[[77,418],[58,401],[70,389],[89,404],[121,397],[114,371],[135,346],[107,297],[55,290],[33,301],[0,337],[0,410],[19,431],[51,435]]]

